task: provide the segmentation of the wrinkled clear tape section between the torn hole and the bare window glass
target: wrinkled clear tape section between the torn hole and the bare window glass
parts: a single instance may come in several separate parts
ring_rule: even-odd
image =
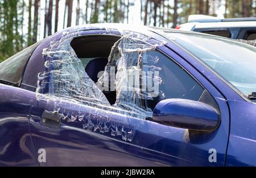
[[[154,100],[163,93],[159,91],[162,80],[161,68],[156,67],[158,56],[148,55],[163,42],[150,39],[135,32],[127,32],[115,43],[109,63],[97,85],[102,91],[115,91],[114,107],[138,113],[142,118],[152,117],[153,109],[147,100]]]

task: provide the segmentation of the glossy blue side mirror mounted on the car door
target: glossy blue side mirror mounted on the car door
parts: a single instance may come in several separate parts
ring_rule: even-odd
[[[153,111],[153,121],[164,125],[196,131],[217,129],[220,119],[217,111],[199,101],[167,99],[160,101]]]

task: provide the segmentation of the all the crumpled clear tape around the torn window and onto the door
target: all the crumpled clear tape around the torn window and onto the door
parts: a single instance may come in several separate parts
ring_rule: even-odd
[[[159,77],[162,69],[156,65],[159,57],[152,56],[150,51],[164,42],[137,32],[119,32],[122,38],[112,47],[105,71],[95,84],[71,47],[73,38],[88,29],[90,27],[77,27],[75,32],[63,32],[59,40],[43,49],[45,71],[38,74],[36,98],[53,102],[53,110],[60,114],[64,122],[81,122],[82,129],[110,132],[112,136],[121,136],[131,142],[135,128],[120,126],[112,118],[121,114],[123,123],[129,125],[130,118],[143,121],[152,117],[152,109],[146,106],[145,100],[153,100],[159,93],[164,97],[164,93],[158,91],[158,86],[162,84]],[[105,28],[102,34],[116,34],[113,31],[117,30]],[[105,97],[106,90],[116,92],[114,105],[110,105]],[[77,109],[77,104],[83,106]],[[66,105],[71,110],[64,110]]]

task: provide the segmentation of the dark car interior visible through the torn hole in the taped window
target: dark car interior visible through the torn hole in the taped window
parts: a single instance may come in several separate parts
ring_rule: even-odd
[[[120,38],[117,35],[89,35],[72,40],[71,47],[84,65],[85,72],[94,82],[98,81],[100,72],[104,72],[111,49]],[[113,105],[116,100],[115,91],[102,92]]]

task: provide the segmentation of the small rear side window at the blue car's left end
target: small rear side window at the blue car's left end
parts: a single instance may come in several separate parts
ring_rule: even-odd
[[[30,57],[37,45],[38,43],[33,44],[0,63],[0,82],[19,85],[28,57]]]

